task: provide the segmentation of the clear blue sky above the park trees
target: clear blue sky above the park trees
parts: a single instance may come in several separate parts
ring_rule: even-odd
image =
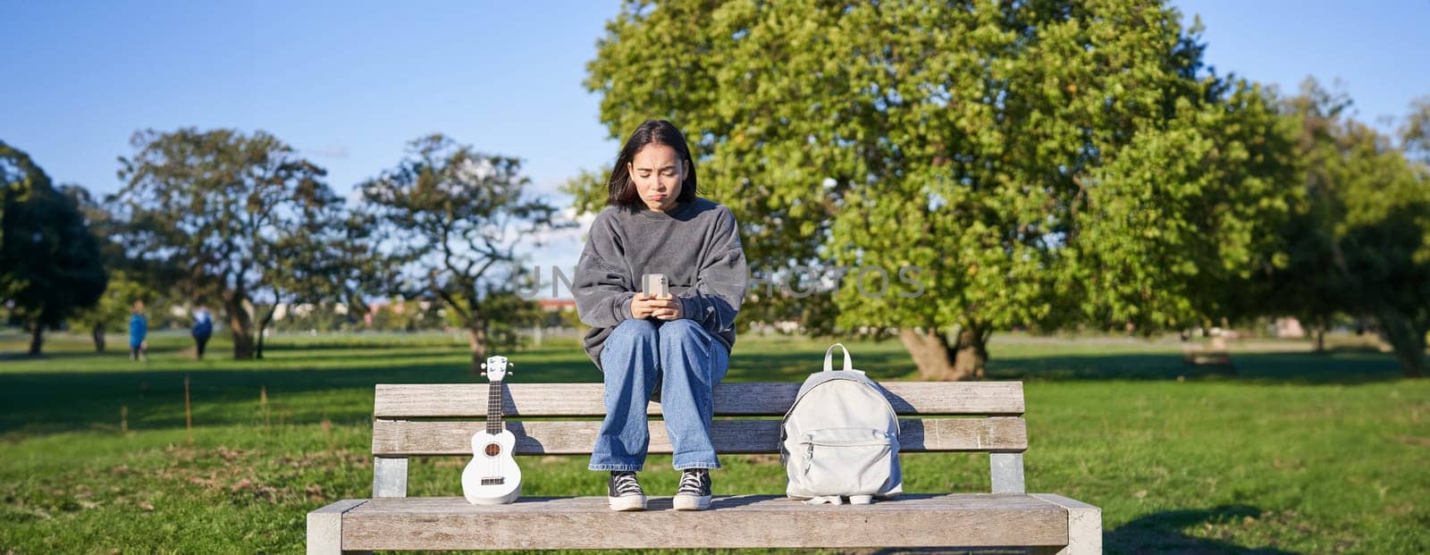
[[[1294,92],[1344,82],[1361,119],[1430,94],[1430,1],[1175,1],[1207,62]],[[0,1],[0,139],[60,183],[119,189],[134,130],[263,129],[340,192],[446,133],[555,187],[615,156],[585,62],[619,1]],[[553,195],[555,199],[555,195]],[[565,202],[565,199],[556,199]],[[575,237],[539,257],[573,266]]]

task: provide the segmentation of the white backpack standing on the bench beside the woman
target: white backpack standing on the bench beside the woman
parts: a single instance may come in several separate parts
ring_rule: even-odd
[[[844,369],[831,366],[834,348]],[[785,413],[779,433],[785,493],[811,504],[868,504],[904,491],[898,465],[898,415],[884,388],[855,370],[849,350],[835,343],[824,353],[824,372],[805,379]]]

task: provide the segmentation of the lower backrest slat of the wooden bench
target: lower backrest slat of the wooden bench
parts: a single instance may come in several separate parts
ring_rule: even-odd
[[[651,421],[652,453],[669,453],[665,422]],[[372,453],[378,456],[465,455],[472,456],[472,433],[485,429],[480,421],[386,421],[373,422]],[[601,422],[526,421],[506,422],[516,435],[518,455],[589,453]],[[715,421],[711,439],[721,453],[776,453],[779,421]],[[1015,416],[899,419],[899,451],[1024,452],[1027,423]]]

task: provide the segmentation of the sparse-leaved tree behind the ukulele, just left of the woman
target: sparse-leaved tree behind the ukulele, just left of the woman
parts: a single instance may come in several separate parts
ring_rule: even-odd
[[[472,365],[486,359],[496,330],[529,313],[512,300],[528,278],[523,240],[568,227],[556,207],[528,197],[521,162],[489,156],[440,134],[418,139],[396,167],[362,185],[395,266],[408,269],[402,296],[440,299],[470,340]],[[521,300],[521,302],[518,302]]]

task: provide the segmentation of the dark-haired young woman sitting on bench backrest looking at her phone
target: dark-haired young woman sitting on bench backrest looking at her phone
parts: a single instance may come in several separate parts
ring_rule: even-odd
[[[611,472],[615,511],[645,509],[636,472],[651,438],[645,409],[661,402],[681,485],[678,511],[709,508],[711,389],[725,378],[735,315],[749,278],[735,216],[695,189],[695,163],[671,122],[636,127],[611,172],[572,283],[592,326],[585,348],[605,373],[606,418],[591,469]],[[664,273],[669,295],[646,296],[641,276]]]

